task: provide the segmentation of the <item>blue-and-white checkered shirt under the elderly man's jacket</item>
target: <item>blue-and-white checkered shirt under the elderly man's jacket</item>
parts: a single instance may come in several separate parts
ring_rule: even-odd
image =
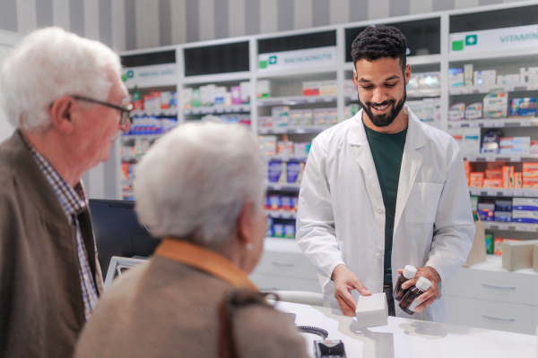
[[[22,141],[26,143],[30,149],[31,155],[38,164],[39,169],[47,178],[48,183],[56,193],[56,197],[60,201],[65,215],[69,220],[69,224],[76,228],[76,251],[79,261],[79,277],[81,280],[82,299],[84,300],[84,317],[90,320],[91,312],[95,309],[99,295],[93,275],[91,274],[90,261],[88,260],[88,252],[82,241],[81,226],[78,221],[78,215],[86,209],[87,198],[82,181],[77,183],[74,188],[71,187],[65,180],[56,172],[56,170],[48,163],[37,149],[35,149],[29,141],[21,134]]]

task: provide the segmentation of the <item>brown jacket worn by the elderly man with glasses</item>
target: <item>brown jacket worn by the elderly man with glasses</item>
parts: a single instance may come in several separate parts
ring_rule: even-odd
[[[87,209],[79,221],[99,287]],[[78,270],[74,226],[15,132],[0,144],[0,357],[73,355],[85,323]]]

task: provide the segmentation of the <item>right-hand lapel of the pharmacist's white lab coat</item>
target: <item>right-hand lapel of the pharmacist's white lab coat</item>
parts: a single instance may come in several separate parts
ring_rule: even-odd
[[[415,181],[419,169],[421,168],[424,155],[418,149],[421,149],[426,143],[425,134],[422,131],[420,120],[414,115],[407,106],[404,110],[408,113],[409,123],[407,125],[407,136],[405,138],[404,156],[402,158],[402,167],[400,169],[400,180],[398,182],[398,195],[396,197],[395,212],[395,233],[402,218],[405,203],[409,198],[412,184]]]

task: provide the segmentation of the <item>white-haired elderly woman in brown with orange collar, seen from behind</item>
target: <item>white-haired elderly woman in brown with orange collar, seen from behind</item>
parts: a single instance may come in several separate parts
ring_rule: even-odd
[[[136,168],[136,213],[163,241],[110,286],[75,356],[307,356],[247,278],[265,236],[257,153],[239,124],[184,124],[150,149]]]

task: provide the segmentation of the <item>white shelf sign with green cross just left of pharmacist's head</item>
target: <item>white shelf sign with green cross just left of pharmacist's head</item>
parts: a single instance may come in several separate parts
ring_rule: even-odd
[[[259,71],[286,70],[336,64],[336,47],[317,47],[306,50],[273,52],[258,55]]]

